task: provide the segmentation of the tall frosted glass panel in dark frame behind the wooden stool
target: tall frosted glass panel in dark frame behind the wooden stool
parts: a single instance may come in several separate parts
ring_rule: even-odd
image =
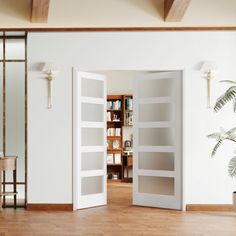
[[[25,64],[6,63],[6,155],[18,156],[17,181],[25,181]]]

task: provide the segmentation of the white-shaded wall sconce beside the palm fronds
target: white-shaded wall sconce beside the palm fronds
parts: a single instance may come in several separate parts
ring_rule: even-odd
[[[207,80],[207,108],[211,108],[211,80],[214,78],[216,71],[216,62],[205,61],[202,64],[201,72],[204,73],[204,78]]]

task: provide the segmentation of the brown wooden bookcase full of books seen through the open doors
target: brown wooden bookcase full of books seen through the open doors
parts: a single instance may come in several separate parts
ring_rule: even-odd
[[[132,126],[132,95],[107,96],[107,178],[124,181],[123,126]],[[130,165],[131,166],[131,165]],[[129,168],[130,168],[129,166]]]

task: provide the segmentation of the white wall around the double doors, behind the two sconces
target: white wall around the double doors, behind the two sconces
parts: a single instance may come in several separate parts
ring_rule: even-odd
[[[30,33],[28,61],[53,61],[53,109],[47,110],[46,81],[29,73],[28,201],[72,202],[72,66],[81,70],[164,70],[185,68],[184,128],[186,203],[231,203],[236,183],[227,175],[233,145],[225,143],[215,159],[206,135],[235,125],[228,105],[214,114],[206,109],[203,60],[215,60],[219,73],[213,98],[225,90],[221,79],[234,79],[236,32]]]

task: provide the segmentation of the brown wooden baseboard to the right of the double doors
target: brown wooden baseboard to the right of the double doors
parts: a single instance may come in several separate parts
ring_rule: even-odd
[[[231,204],[187,204],[186,211],[234,211]]]

